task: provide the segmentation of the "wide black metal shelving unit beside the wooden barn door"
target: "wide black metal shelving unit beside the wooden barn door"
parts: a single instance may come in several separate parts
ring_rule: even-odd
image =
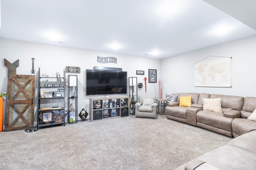
[[[49,77],[38,71],[38,111],[37,129],[65,126],[65,73],[63,77]],[[58,92],[59,91],[59,92]],[[55,92],[55,94],[54,94]],[[58,107],[57,107],[58,106]],[[53,114],[54,113],[54,114]],[[47,115],[51,116],[47,121]]]

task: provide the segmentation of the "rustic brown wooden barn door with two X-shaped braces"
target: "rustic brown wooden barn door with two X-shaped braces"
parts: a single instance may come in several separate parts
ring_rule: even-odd
[[[34,125],[34,75],[8,74],[5,131]]]

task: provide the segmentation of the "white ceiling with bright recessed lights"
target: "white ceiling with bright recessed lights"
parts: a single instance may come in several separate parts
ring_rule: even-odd
[[[254,1],[1,0],[0,38],[163,59],[256,35]]]

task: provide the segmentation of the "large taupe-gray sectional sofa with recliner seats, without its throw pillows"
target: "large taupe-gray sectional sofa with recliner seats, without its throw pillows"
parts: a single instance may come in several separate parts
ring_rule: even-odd
[[[180,97],[191,96],[191,106],[179,106]],[[221,98],[221,112],[204,110],[203,100]],[[255,97],[206,93],[179,93],[168,103],[166,117],[210,131],[235,137],[227,145],[212,150],[175,170],[250,170],[256,168],[256,121],[247,118],[256,109]],[[236,161],[234,161],[236,160]]]

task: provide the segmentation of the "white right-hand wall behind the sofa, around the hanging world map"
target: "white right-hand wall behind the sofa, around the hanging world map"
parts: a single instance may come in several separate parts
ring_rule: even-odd
[[[208,56],[232,57],[230,88],[195,87],[194,63]],[[256,36],[200,49],[162,60],[166,92],[198,92],[256,97]]]

